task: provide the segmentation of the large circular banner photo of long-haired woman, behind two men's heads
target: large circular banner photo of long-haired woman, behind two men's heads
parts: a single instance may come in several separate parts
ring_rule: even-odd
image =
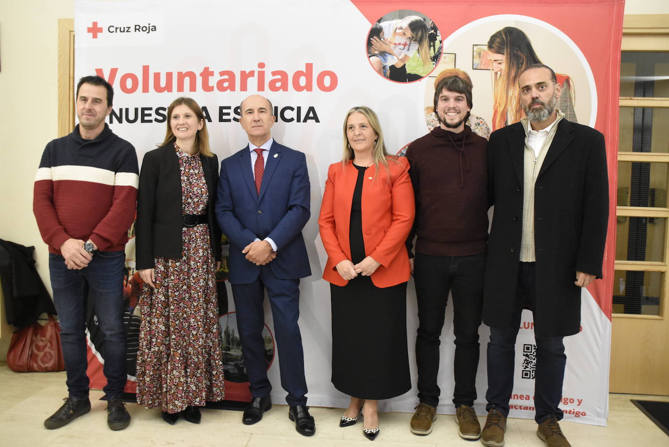
[[[489,41],[485,50],[479,52],[482,58],[480,62],[482,66],[488,67],[487,70],[469,68],[471,65],[468,66],[467,62],[472,45],[477,46],[472,41],[480,40],[481,36],[486,36],[485,39]],[[520,121],[525,114],[518,101],[518,77],[526,66],[534,63],[543,63],[555,70],[557,82],[562,86],[556,107],[565,113],[565,118],[591,125],[595,118],[593,113],[596,113],[597,98],[591,68],[583,64],[583,58],[579,57],[580,50],[575,44],[565,38],[565,34],[556,32],[555,27],[548,23],[520,16],[515,20],[486,17],[474,25],[469,24],[466,29],[458,30],[456,36],[448,36],[444,51],[457,55],[460,62],[458,72],[445,72],[440,65],[427,77],[434,79],[434,82],[425,84],[423,96],[427,129],[432,130],[438,124],[432,113],[432,99],[434,86],[440,76],[444,75],[460,74],[472,83],[474,107],[467,124],[478,135],[488,139],[490,133],[499,127]],[[508,48],[512,56],[506,58],[504,48]],[[496,51],[502,51],[502,54]],[[537,56],[538,52],[543,58]],[[476,61],[476,52],[473,57],[472,60]]]

